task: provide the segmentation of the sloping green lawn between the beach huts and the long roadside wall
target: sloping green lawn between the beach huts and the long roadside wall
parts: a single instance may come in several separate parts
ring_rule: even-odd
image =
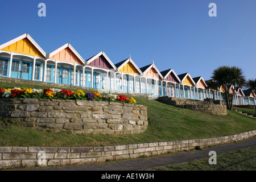
[[[40,85],[0,83],[0,88],[14,87],[46,88]],[[49,88],[52,87],[49,86]],[[65,89],[72,90],[70,88]],[[146,105],[148,109],[148,129],[142,134],[54,133],[53,131],[39,131],[14,124],[4,125],[0,120],[0,146],[107,146],[212,138],[256,130],[256,119],[235,111],[228,110],[228,115],[213,115],[180,109],[143,97],[134,98],[139,104]]]

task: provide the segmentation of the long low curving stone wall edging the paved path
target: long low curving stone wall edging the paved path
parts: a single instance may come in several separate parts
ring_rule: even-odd
[[[172,142],[125,144],[101,147],[0,147],[0,169],[10,167],[58,166],[133,159],[139,156],[160,155],[167,152],[188,151],[238,142],[254,137],[256,130],[226,137],[190,139]],[[42,162],[42,154],[46,157]],[[40,162],[39,162],[40,161]]]

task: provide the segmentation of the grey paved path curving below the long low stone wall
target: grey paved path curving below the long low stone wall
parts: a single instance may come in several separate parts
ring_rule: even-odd
[[[185,163],[189,160],[197,160],[209,158],[209,151],[216,151],[217,155],[225,152],[239,150],[256,145],[256,137],[243,140],[242,142],[225,144],[206,148],[204,150],[196,150],[191,152],[181,152],[179,154],[155,156],[150,158],[139,158],[121,160],[119,162],[108,162],[100,164],[88,164],[79,166],[64,166],[64,167],[47,167],[35,168],[33,170],[49,170],[49,171],[143,171],[155,167],[167,166],[168,164]]]

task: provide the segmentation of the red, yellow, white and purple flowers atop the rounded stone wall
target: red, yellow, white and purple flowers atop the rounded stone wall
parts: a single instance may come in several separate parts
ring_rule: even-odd
[[[98,92],[84,93],[82,90],[69,91],[65,89],[2,89],[0,88],[0,98],[48,98],[48,99],[61,99],[61,100],[90,100],[90,101],[107,101],[107,102],[120,102],[128,104],[137,104],[136,100],[131,97],[127,98],[123,95],[107,94],[102,96]]]

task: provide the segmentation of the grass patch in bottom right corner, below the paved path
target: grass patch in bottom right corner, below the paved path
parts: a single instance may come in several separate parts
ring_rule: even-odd
[[[171,164],[155,168],[154,171],[255,171],[256,146],[243,148],[217,155],[216,164],[210,165],[207,159],[192,160],[184,164]]]

